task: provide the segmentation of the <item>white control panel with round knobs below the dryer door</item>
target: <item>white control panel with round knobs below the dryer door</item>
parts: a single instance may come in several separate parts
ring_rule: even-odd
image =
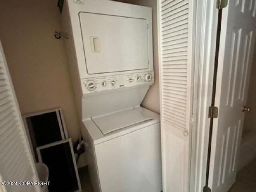
[[[132,73],[81,80],[83,94],[154,83],[154,72]]]

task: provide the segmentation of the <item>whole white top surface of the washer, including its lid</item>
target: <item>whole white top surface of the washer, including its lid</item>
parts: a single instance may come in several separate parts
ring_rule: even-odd
[[[141,106],[84,120],[84,130],[94,144],[114,139],[160,122],[160,116]]]

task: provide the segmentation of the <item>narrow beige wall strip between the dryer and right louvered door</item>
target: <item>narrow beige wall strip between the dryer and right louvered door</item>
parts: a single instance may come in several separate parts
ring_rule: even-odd
[[[148,93],[146,94],[146,97],[144,98],[144,101],[142,102],[142,106],[160,114],[158,39],[157,39],[157,6],[156,6],[157,1],[156,0],[116,0],[116,1],[152,7],[155,83],[148,90]]]

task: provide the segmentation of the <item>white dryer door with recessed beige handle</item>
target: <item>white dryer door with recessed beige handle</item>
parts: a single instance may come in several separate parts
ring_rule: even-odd
[[[80,12],[88,74],[147,69],[147,20]]]

